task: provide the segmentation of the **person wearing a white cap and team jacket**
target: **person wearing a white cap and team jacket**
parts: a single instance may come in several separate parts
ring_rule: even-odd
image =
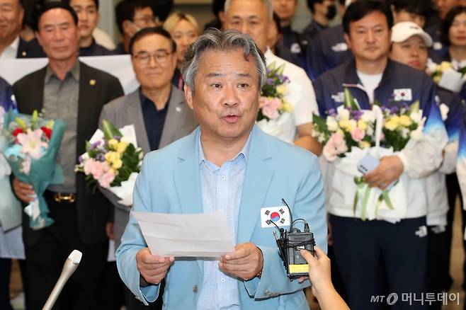
[[[390,58],[394,61],[424,71],[428,62],[428,47],[431,46],[431,36],[415,23],[397,23],[392,28]],[[461,101],[452,91],[438,87],[437,101],[440,104],[442,120],[448,132],[448,144],[444,149],[442,166],[438,171],[426,177],[428,292],[448,291],[448,283],[445,283],[445,278],[448,275],[450,255],[445,255],[445,253],[450,253],[449,244],[451,242],[448,242],[445,230],[448,213],[445,173],[452,173],[455,169],[455,157],[458,151],[458,137],[462,121]],[[453,160],[449,160],[452,158]],[[436,302],[435,309],[441,309],[440,302]]]

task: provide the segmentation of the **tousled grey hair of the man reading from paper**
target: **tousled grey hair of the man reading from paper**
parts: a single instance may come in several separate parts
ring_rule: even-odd
[[[200,35],[185,52],[181,74],[183,74],[183,80],[191,88],[192,93],[194,93],[194,78],[199,71],[200,57],[209,50],[242,50],[244,59],[249,60],[249,57],[252,57],[259,75],[259,89],[262,89],[267,74],[266,57],[254,40],[249,35],[243,35],[237,30],[220,31],[210,28],[203,35]]]

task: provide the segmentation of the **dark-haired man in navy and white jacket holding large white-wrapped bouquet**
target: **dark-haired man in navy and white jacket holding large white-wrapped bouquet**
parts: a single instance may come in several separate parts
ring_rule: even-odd
[[[433,81],[424,72],[389,59],[391,27],[390,11],[380,1],[360,0],[348,6],[343,28],[355,59],[314,82],[321,115],[341,110],[348,93],[361,109],[374,110],[376,105],[383,113],[377,124],[383,125],[378,141],[384,148],[376,150],[385,149],[386,155],[373,158],[376,164],[358,178],[362,186],[365,183],[380,193],[367,206],[375,209],[375,217],[360,217],[353,176],[336,168],[341,157],[330,163],[334,173],[326,180],[334,253],[351,309],[380,309],[382,304],[370,302],[374,295],[426,292],[428,204],[424,178],[441,165],[447,134]],[[402,115],[400,111],[410,113]],[[404,125],[422,130],[405,128],[402,136],[397,136],[395,130]],[[388,143],[394,135],[407,144]],[[347,168],[356,171],[357,164]],[[399,195],[391,195],[393,191]],[[397,306],[422,307],[420,303]]]

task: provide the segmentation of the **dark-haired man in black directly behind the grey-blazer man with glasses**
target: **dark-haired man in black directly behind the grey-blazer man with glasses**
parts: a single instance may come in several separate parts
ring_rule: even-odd
[[[116,22],[123,41],[113,51],[115,54],[130,53],[130,40],[135,33],[147,27],[155,27],[154,11],[150,0],[123,0],[115,8]]]

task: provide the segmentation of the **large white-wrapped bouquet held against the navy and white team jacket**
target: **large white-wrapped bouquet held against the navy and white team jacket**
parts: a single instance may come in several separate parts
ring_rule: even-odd
[[[389,190],[369,188],[358,165],[365,156],[380,159],[407,146],[410,139],[422,139],[424,118],[419,103],[408,106],[393,103],[361,110],[348,89],[336,113],[329,111],[324,120],[314,115],[313,136],[324,144],[323,155],[331,163],[328,174],[330,200],[343,202],[361,219],[397,222],[407,211],[402,175]],[[328,178],[328,179],[329,179]],[[348,214],[349,215],[349,214]]]

